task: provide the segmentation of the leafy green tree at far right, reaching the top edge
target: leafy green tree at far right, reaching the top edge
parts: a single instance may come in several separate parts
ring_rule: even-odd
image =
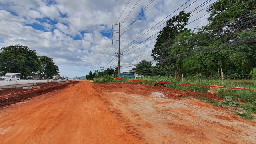
[[[219,48],[204,54],[202,61],[209,69],[241,76],[256,66],[255,4],[254,0],[218,0],[209,6],[208,24],[201,30],[208,43],[202,50]]]

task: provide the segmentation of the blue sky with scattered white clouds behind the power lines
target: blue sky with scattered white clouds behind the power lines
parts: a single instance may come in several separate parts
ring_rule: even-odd
[[[190,0],[183,8],[194,1]],[[211,0],[205,6],[215,1]],[[38,55],[53,58],[60,68],[60,75],[69,78],[84,76],[91,70],[94,71],[96,61],[97,69],[100,66],[114,68],[117,64],[114,53],[118,50],[118,43],[114,42],[112,45],[112,24],[118,22],[118,18],[124,10],[120,17],[122,34],[150,0],[140,0],[134,7],[136,2],[137,0],[131,0],[124,10],[128,0],[0,0],[0,47],[15,44],[28,46],[30,49],[36,50]],[[124,52],[121,65],[136,64],[140,60],[152,60],[150,53],[145,56],[141,55],[154,48],[156,39],[145,43],[142,41],[161,30],[165,24],[139,42],[131,46],[128,44],[150,30],[185,2],[187,0],[155,0],[152,2],[121,36],[121,52]],[[203,2],[205,0],[197,0],[185,11],[189,12]],[[182,8],[174,14],[180,10]],[[204,14],[205,10],[193,16],[190,21]],[[207,16],[193,22],[188,28],[207,24],[206,18]],[[118,31],[117,28],[118,26],[115,26],[114,30]],[[118,34],[114,33],[113,39],[118,39],[117,36]],[[129,54],[127,53],[130,51],[125,53],[126,49],[138,44],[142,44],[134,49],[138,50]],[[122,60],[129,59],[129,62],[122,63]],[[132,68],[123,67],[122,71]]]

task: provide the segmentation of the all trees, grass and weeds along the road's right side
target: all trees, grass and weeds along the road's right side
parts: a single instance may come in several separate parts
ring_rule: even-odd
[[[254,0],[218,0],[207,8],[208,24],[194,29],[186,27],[192,16],[191,13],[182,10],[170,18],[159,32],[151,53],[154,60],[142,60],[137,64],[123,66],[122,69],[136,66],[129,72],[136,71],[137,75],[144,76],[139,80],[255,90],[256,9],[254,5]],[[152,66],[152,62],[156,65]],[[94,82],[134,82],[116,81],[110,75],[104,76],[104,74],[115,77],[117,71],[112,70],[108,73],[103,71],[96,74],[97,79]],[[142,83],[163,85],[178,90],[192,90],[200,92],[202,98],[210,89],[200,86]],[[205,100],[206,102],[222,107],[240,106],[246,112],[236,111],[236,113],[244,118],[252,118],[256,106],[255,91],[222,88],[215,91],[224,101]]]

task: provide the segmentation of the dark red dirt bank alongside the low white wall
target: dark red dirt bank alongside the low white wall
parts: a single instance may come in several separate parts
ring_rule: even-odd
[[[23,102],[24,100],[28,100],[41,94],[65,88],[66,86],[76,84],[77,82],[78,81],[37,83],[33,85],[40,86],[40,88],[37,89],[2,88],[2,90],[0,90],[0,108],[17,102]]]

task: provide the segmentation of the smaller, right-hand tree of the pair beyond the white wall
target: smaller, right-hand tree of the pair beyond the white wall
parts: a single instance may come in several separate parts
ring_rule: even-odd
[[[58,66],[53,62],[53,59],[48,56],[38,56],[40,68],[38,70],[40,78],[52,78],[59,73]]]

